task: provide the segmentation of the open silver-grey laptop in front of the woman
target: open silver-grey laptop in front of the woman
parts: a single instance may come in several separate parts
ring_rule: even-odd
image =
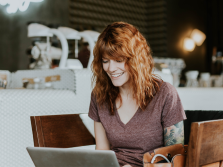
[[[36,167],[120,167],[115,152],[72,148],[26,148]]]

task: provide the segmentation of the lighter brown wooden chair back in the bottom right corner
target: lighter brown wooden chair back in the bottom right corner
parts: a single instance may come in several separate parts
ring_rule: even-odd
[[[186,167],[223,167],[223,120],[191,124]]]

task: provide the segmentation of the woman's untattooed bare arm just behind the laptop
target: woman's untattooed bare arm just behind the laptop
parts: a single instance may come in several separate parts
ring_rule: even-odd
[[[110,150],[110,144],[107,139],[105,129],[100,122],[94,121],[94,131],[96,140],[96,150]]]

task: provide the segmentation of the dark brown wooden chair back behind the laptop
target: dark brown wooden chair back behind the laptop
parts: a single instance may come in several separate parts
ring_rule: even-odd
[[[30,118],[35,147],[69,148],[95,144],[79,114]]]

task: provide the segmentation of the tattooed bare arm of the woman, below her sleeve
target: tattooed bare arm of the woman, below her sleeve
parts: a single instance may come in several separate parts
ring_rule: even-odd
[[[183,121],[177,124],[164,128],[164,146],[173,144],[184,144],[184,123]]]

